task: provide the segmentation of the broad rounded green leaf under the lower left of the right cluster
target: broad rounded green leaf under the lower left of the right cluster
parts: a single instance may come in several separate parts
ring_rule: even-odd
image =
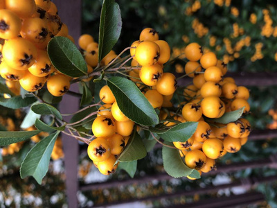
[[[162,154],[163,167],[168,175],[172,177],[184,177],[193,173],[193,177],[200,177],[198,171],[196,171],[198,173],[197,175],[194,169],[189,168],[188,166],[186,166],[186,164],[184,164],[179,154],[179,150],[163,146]]]

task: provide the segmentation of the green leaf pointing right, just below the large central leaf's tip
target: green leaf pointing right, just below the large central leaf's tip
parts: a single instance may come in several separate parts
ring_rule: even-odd
[[[187,141],[193,136],[197,128],[198,122],[185,122],[179,123],[170,130],[163,133],[158,133],[159,137],[163,138],[165,141]]]

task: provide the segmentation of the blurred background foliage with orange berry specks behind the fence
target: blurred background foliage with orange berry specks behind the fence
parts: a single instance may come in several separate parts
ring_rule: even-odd
[[[82,33],[89,33],[98,40],[98,26],[102,1],[83,0]],[[184,47],[190,42],[198,42],[205,50],[214,51],[217,58],[228,63],[229,71],[272,72],[277,71],[277,2],[262,0],[120,0],[123,29],[120,40],[114,51],[120,53],[132,42],[139,39],[141,30],[152,27],[159,31],[161,40],[166,40],[172,47],[176,57],[183,53]],[[58,8],[62,9],[62,8]],[[184,71],[180,66],[170,66],[171,70]],[[247,119],[254,129],[277,128],[277,87],[249,87],[251,97],[251,114]],[[0,109],[0,129],[19,130],[25,112]],[[42,139],[36,138],[1,149],[0,155],[0,207],[62,207],[66,205],[64,170],[62,163],[61,142],[56,145],[48,174],[39,186],[32,177],[21,180],[19,166],[21,158]],[[262,141],[249,141],[235,154],[227,154],[218,164],[245,162],[253,159],[266,158],[277,153],[277,139],[267,138]],[[81,184],[89,182],[123,180],[129,178],[124,171],[116,171],[109,177],[100,175],[93,166],[82,146],[78,177]],[[164,173],[161,149],[154,149],[148,157],[138,162],[135,177]],[[186,178],[168,181],[154,181],[145,184],[134,184],[132,187],[85,191],[78,193],[81,207],[106,203],[113,200],[158,196],[162,193],[174,193],[179,190],[190,190],[208,187],[218,180],[238,180],[250,176],[276,175],[272,168],[250,169],[236,173],[224,173],[214,176],[203,175],[197,181]],[[265,194],[267,202],[256,207],[277,207],[276,183],[261,184],[256,187]],[[213,195],[202,195],[148,202],[145,207],[162,207],[166,205],[185,204],[217,196],[229,196],[234,190],[223,191]],[[10,197],[15,196],[15,197]],[[36,202],[36,203],[35,203]]]

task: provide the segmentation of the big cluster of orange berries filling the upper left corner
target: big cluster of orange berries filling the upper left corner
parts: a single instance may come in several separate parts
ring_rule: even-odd
[[[47,82],[47,89],[53,96],[65,94],[70,87],[70,78],[53,67],[46,52],[47,44],[54,36],[73,41],[53,2],[1,0],[1,76],[19,82],[28,92],[41,89]]]

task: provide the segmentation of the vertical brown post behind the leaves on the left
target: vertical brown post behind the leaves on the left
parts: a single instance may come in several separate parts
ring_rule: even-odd
[[[69,28],[75,42],[78,43],[78,37],[81,35],[81,9],[82,0],[53,0],[57,6],[58,14],[62,22]],[[71,91],[78,91],[78,85],[72,85]],[[62,113],[76,112],[79,108],[80,100],[73,96],[65,95],[60,103],[60,111]],[[69,208],[78,207],[77,191],[78,187],[78,141],[67,135],[62,135],[64,148],[64,166],[66,172],[66,196]]]

